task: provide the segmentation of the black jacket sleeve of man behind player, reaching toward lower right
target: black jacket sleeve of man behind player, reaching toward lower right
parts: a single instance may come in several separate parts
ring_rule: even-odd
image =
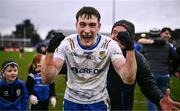
[[[150,71],[150,66],[145,57],[136,51],[137,60],[137,83],[140,86],[142,93],[154,104],[159,106],[161,98],[164,96],[161,90],[156,85],[153,75]]]

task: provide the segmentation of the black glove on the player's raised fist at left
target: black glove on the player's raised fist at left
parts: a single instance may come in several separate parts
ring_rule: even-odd
[[[49,42],[47,52],[53,53],[64,38],[65,38],[65,36],[62,33],[55,32],[53,34],[53,38],[51,38],[51,40]]]

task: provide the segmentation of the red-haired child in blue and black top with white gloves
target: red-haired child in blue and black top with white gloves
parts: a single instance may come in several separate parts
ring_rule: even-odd
[[[29,92],[30,110],[48,110],[49,100],[54,108],[56,106],[55,83],[45,85],[41,78],[41,65],[44,61],[43,54],[33,58],[27,77],[26,86]]]

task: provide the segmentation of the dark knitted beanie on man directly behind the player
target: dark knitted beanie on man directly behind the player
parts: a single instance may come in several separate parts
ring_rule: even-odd
[[[133,23],[131,23],[127,20],[119,20],[119,21],[114,23],[112,30],[111,30],[111,33],[116,26],[123,26],[129,32],[131,37],[135,36],[135,26]]]

